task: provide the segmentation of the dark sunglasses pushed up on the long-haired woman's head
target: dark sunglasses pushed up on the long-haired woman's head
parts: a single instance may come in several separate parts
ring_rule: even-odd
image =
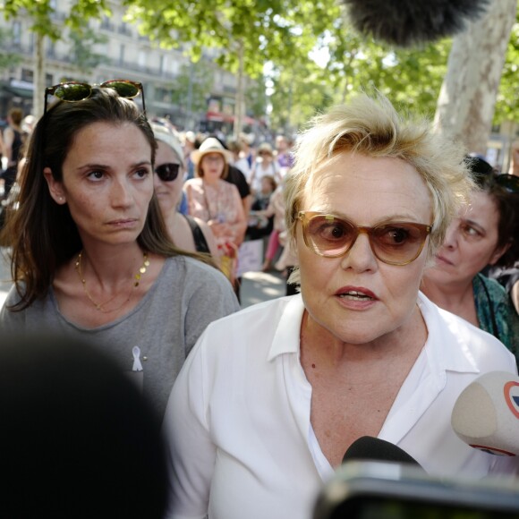
[[[67,103],[77,103],[84,99],[88,99],[92,95],[92,88],[98,86],[101,89],[114,89],[120,98],[132,99],[139,94],[142,96],[142,112],[146,114],[146,106],[144,105],[144,90],[142,83],[130,80],[109,80],[100,85],[89,85],[89,83],[80,83],[78,81],[66,81],[54,87],[45,89],[45,108],[44,114],[47,112],[48,96],[66,101]]]

